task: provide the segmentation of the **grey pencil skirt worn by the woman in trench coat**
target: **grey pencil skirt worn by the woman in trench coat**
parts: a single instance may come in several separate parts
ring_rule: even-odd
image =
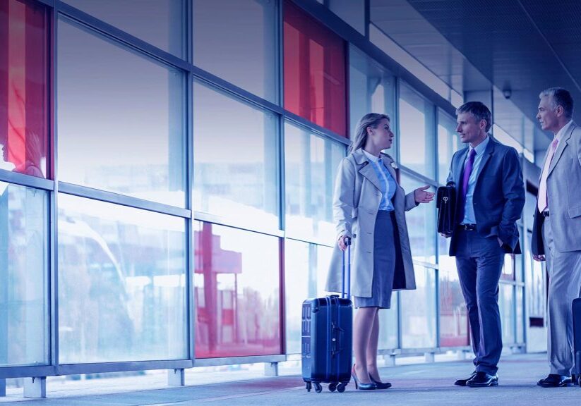
[[[391,307],[393,275],[395,273],[395,214],[393,211],[377,212],[373,231],[373,281],[371,297],[354,296],[355,307]]]

